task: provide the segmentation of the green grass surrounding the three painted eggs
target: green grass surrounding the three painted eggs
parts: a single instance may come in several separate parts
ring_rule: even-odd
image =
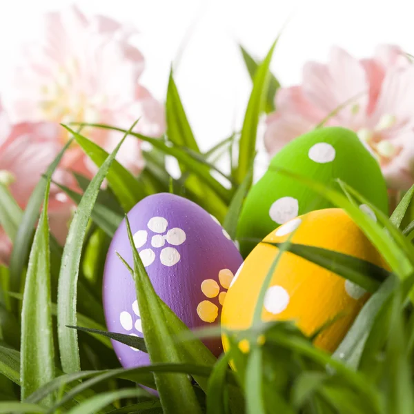
[[[25,211],[8,188],[0,186],[0,225],[14,241],[10,269],[0,268],[0,413],[414,412],[413,226],[400,228],[414,188],[391,217],[371,206],[378,217],[375,223],[353,202],[368,204],[366,200],[346,184],[341,183],[344,192],[339,193],[307,177],[279,171],[306,184],[315,197],[322,195],[346,210],[390,266],[387,271],[290,240],[279,245],[281,251],[335,271],[372,293],[333,355],[315,348],[312,338],[293,322],[260,321],[267,277],[253,326],[228,332],[228,353],[216,359],[200,338],[219,335],[219,330],[192,333],[157,296],[135,248],[134,268],[125,265],[136,282],[144,339],[105,331],[103,261],[115,229],[137,201],[170,190],[217,215],[235,235],[251,186],[261,105],[266,101],[265,109],[271,108],[270,97],[278,86],[268,72],[272,51],[264,63],[256,63],[243,50],[253,90],[241,139],[234,135],[205,154],[199,151],[172,75],[166,99],[169,141],[95,126],[121,130],[153,145],[139,177],[114,161],[119,147],[108,154],[65,126],[99,168],[92,181],[76,176],[83,194],[61,186],[78,205],[65,246],[50,237],[46,207],[41,208],[48,204],[50,177],[64,149],[45,170]],[[230,185],[225,188],[210,170],[217,170],[213,156],[228,148],[237,152],[238,163],[230,168],[232,176],[225,177]],[[166,173],[165,155],[179,162],[180,179]],[[108,182],[105,190],[103,179]],[[109,338],[148,352],[151,365],[121,368]],[[250,343],[248,353],[238,347],[242,339]],[[157,389],[157,395],[138,384]]]

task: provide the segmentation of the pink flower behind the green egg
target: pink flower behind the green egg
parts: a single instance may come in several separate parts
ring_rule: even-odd
[[[306,63],[302,85],[280,89],[275,104],[264,138],[271,155],[338,109],[326,125],[355,130],[390,188],[414,184],[414,66],[400,48],[379,46],[362,60],[332,48],[327,64]]]

